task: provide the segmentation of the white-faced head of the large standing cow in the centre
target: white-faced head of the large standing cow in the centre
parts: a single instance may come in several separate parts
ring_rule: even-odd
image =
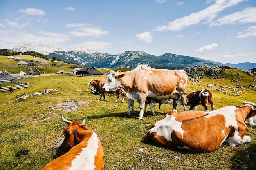
[[[119,89],[121,87],[121,85],[120,85],[120,82],[118,81],[118,79],[120,79],[122,77],[124,77],[124,74],[121,73],[120,70],[110,71],[108,73],[106,83],[102,87],[103,91],[108,92],[108,91],[116,91],[117,89]]]

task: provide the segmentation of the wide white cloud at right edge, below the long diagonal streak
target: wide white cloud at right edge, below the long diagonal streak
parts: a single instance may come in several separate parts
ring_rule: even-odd
[[[222,18],[219,18],[215,22],[209,24],[210,26],[222,26],[225,24],[245,24],[256,22],[256,7],[245,8],[243,11],[235,12],[230,15],[226,15]]]

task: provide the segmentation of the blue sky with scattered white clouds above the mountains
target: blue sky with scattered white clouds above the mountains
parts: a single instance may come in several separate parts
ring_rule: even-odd
[[[0,0],[0,40],[256,63],[256,0]]]

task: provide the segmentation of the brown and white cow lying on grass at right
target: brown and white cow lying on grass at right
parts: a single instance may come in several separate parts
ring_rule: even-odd
[[[248,126],[256,128],[256,104],[226,106],[211,112],[171,110],[153,124],[147,136],[164,147],[177,147],[194,152],[211,152],[223,142],[236,146],[251,141]]]

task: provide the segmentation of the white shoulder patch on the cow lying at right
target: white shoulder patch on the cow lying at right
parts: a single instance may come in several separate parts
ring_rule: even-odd
[[[236,113],[235,111],[238,110],[236,106],[226,106],[219,110],[213,110],[206,115],[206,118],[210,118],[211,116],[216,115],[223,115],[225,117],[225,126],[229,127],[230,125],[233,126],[235,129],[238,128],[237,121],[236,121]]]

